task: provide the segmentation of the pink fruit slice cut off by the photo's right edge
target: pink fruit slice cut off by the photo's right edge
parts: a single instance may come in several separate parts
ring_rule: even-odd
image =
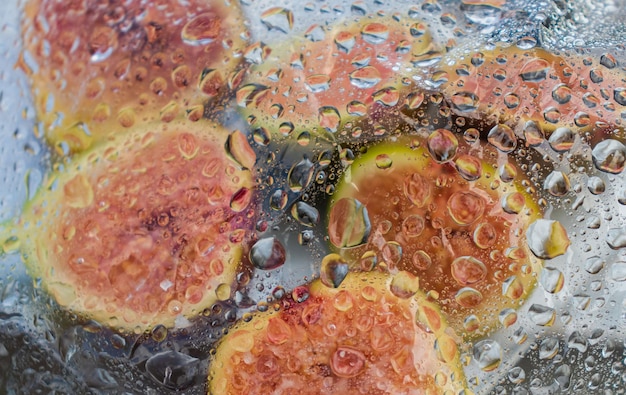
[[[498,47],[456,56],[442,63],[449,65],[442,89],[461,115],[533,120],[547,132],[567,127],[592,139],[623,129],[626,83],[610,54],[593,59]]]

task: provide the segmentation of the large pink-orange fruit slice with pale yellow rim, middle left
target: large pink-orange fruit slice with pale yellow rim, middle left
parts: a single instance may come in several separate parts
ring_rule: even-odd
[[[61,306],[124,330],[209,307],[251,229],[251,174],[227,138],[211,123],[156,123],[53,172],[21,219],[33,277]]]

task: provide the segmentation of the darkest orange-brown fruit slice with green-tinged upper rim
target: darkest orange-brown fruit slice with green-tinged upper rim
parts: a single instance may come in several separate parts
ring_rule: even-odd
[[[496,174],[493,148],[457,151],[439,129],[419,141],[401,139],[368,149],[333,195],[329,239],[364,269],[384,263],[417,275],[438,299],[450,326],[469,336],[510,325],[535,284],[541,261],[526,230],[541,212],[510,164]],[[515,179],[514,179],[515,178]],[[504,312],[504,313],[503,313]]]

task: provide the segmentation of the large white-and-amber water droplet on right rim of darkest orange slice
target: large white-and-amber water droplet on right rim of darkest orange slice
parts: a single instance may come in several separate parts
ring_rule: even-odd
[[[528,247],[541,259],[552,259],[565,254],[570,245],[567,231],[558,221],[538,219],[526,231]]]

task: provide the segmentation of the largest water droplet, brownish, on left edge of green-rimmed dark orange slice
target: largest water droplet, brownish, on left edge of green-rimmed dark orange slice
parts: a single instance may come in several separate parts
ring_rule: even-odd
[[[370,230],[367,209],[358,200],[342,198],[331,207],[328,236],[335,247],[356,247],[364,244]]]

